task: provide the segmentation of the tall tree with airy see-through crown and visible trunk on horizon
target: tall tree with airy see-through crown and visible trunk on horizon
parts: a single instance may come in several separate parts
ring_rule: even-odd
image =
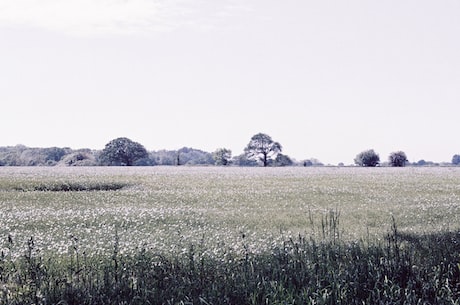
[[[267,166],[270,160],[275,159],[281,150],[280,143],[274,142],[269,135],[258,133],[251,138],[244,152],[248,159],[261,162],[263,166]]]

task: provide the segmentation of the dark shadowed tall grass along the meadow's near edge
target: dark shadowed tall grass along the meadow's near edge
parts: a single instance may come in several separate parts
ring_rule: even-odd
[[[225,258],[191,245],[165,257],[140,249],[0,259],[0,304],[460,304],[460,231],[397,232],[384,242],[298,236],[270,252],[244,244]]]

